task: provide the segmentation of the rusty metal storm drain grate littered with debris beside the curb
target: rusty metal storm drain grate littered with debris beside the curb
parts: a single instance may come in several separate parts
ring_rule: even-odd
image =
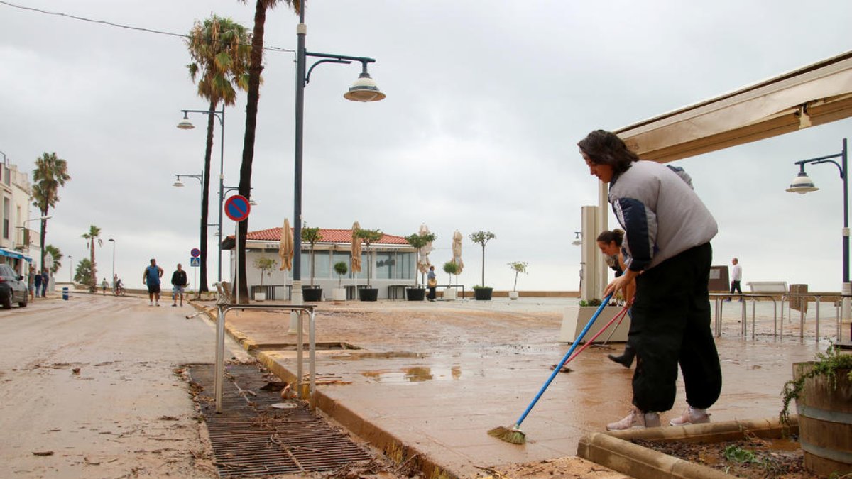
[[[226,367],[216,413],[214,366],[190,366],[219,476],[269,476],[337,470],[371,454],[296,400],[281,400],[260,366]],[[266,389],[264,389],[266,388]],[[273,404],[285,409],[272,407]]]

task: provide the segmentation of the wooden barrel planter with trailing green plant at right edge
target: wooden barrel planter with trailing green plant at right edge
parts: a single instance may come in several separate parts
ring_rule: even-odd
[[[781,424],[790,424],[790,404],[796,401],[805,469],[818,476],[852,470],[852,355],[831,343],[815,361],[793,363],[793,378],[781,397]]]

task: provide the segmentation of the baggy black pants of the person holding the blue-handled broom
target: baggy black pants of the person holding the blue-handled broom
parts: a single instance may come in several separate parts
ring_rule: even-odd
[[[722,391],[722,368],[710,327],[710,243],[683,251],[636,278],[629,343],[636,349],[633,404],[668,411],[676,395],[677,365],[687,402],[711,407]]]

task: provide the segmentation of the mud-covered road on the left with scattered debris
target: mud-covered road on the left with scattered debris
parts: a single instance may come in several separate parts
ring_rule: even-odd
[[[161,303],[78,294],[0,310],[0,477],[216,477],[179,375],[214,361],[216,332]]]

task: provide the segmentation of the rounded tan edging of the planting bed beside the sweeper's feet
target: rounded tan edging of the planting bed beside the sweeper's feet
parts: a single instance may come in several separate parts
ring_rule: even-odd
[[[798,433],[798,421],[791,417],[790,432]],[[698,465],[631,442],[646,441],[721,442],[743,439],[746,434],[761,438],[780,437],[783,431],[777,418],[691,424],[644,430],[593,432],[583,436],[577,455],[636,479],[730,477],[722,471]]]

